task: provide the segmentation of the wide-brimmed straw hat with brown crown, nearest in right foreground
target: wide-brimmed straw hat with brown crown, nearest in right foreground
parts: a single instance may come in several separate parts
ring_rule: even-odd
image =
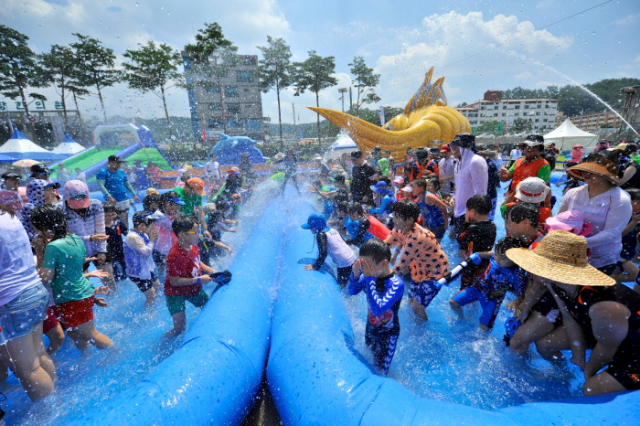
[[[533,249],[507,250],[527,272],[564,284],[612,286],[616,280],[589,265],[587,240],[567,231],[551,231]]]

